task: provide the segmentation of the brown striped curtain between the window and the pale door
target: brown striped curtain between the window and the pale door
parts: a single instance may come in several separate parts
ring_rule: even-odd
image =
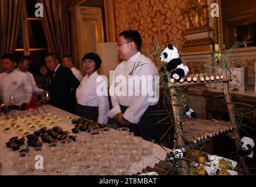
[[[69,0],[37,0],[43,4],[43,30],[48,49],[59,58],[71,54]]]

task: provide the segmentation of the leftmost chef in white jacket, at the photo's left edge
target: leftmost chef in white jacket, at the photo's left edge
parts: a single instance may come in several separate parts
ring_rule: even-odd
[[[2,56],[1,63],[4,68],[4,72],[0,74],[2,102],[7,106],[21,106],[22,103],[28,103],[32,96],[32,85],[28,75],[15,69],[16,60],[13,54]]]

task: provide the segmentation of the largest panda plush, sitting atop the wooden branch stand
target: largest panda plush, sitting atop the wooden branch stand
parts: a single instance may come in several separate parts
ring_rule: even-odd
[[[186,76],[189,68],[182,63],[179,58],[179,52],[176,47],[169,44],[165,50],[162,51],[160,60],[166,64],[166,70],[170,71],[170,77],[179,81],[182,77]],[[161,71],[164,67],[161,68]]]

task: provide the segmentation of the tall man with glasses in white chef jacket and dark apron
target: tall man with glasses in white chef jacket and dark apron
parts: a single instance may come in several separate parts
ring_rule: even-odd
[[[117,43],[117,50],[120,58],[123,60],[118,64],[114,71],[114,77],[122,75],[127,79],[135,75],[148,77],[148,75],[158,76],[158,70],[152,61],[141,54],[141,35],[136,30],[125,30],[120,33]],[[149,77],[150,77],[149,76]],[[154,77],[148,81],[153,82]],[[118,82],[118,81],[117,81]],[[117,117],[117,121],[121,126],[127,126],[134,132],[135,136],[141,136],[145,140],[159,140],[159,124],[157,115],[157,101],[151,102],[149,95],[127,95],[111,94],[113,87],[120,87],[120,84],[110,82],[110,95],[112,109],[108,112],[108,116]],[[133,85],[126,85],[129,89]],[[140,85],[142,86],[142,85]],[[125,87],[125,85],[124,85]],[[112,90],[111,90],[112,89]],[[139,90],[131,88],[131,90],[141,93]],[[114,89],[114,91],[116,91]]]

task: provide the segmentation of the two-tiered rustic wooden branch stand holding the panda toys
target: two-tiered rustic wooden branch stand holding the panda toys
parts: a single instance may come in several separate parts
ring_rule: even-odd
[[[221,75],[215,74],[210,75],[207,73],[192,74],[183,78],[180,82],[175,82],[175,80],[169,81],[170,96],[172,103],[173,116],[175,121],[175,149],[176,146],[184,147],[185,141],[189,143],[198,143],[199,141],[207,141],[209,138],[216,136],[221,133],[226,133],[227,131],[233,130],[237,133],[236,122],[235,122],[235,112],[233,106],[231,106],[231,96],[229,91],[229,82],[232,81],[231,77],[227,76],[227,70],[223,70]],[[179,115],[180,105],[184,103],[178,103],[178,96],[176,94],[177,86],[189,86],[196,84],[210,84],[222,82],[224,86],[225,100],[227,104],[228,114],[230,116],[230,122],[224,122],[219,120],[203,120],[203,119],[183,119]],[[181,122],[181,123],[180,123]],[[235,147],[237,150],[239,146],[238,134],[235,138]],[[250,170],[244,162],[244,157],[240,156],[240,161],[243,163],[243,168],[245,174],[250,174]],[[180,173],[182,175],[188,175],[187,169],[188,165],[185,161],[180,160]],[[146,168],[146,171],[152,170],[152,168]]]

